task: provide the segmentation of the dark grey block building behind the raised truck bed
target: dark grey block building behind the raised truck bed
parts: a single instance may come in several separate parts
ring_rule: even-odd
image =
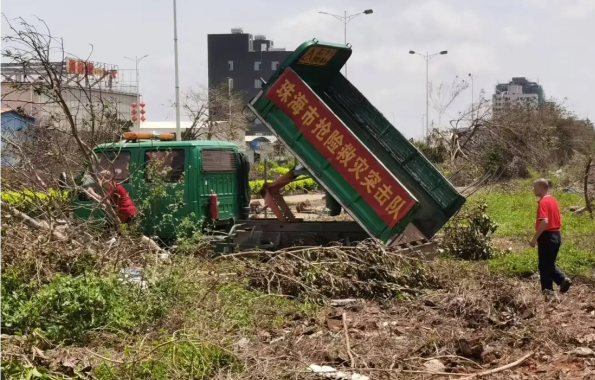
[[[208,34],[209,86],[230,83],[233,90],[246,93],[246,102],[258,93],[260,78],[268,80],[290,54],[274,48],[273,41],[262,34],[244,33],[241,28],[227,34]],[[231,78],[231,81],[229,80]],[[268,133],[264,125],[253,125],[248,134]]]

